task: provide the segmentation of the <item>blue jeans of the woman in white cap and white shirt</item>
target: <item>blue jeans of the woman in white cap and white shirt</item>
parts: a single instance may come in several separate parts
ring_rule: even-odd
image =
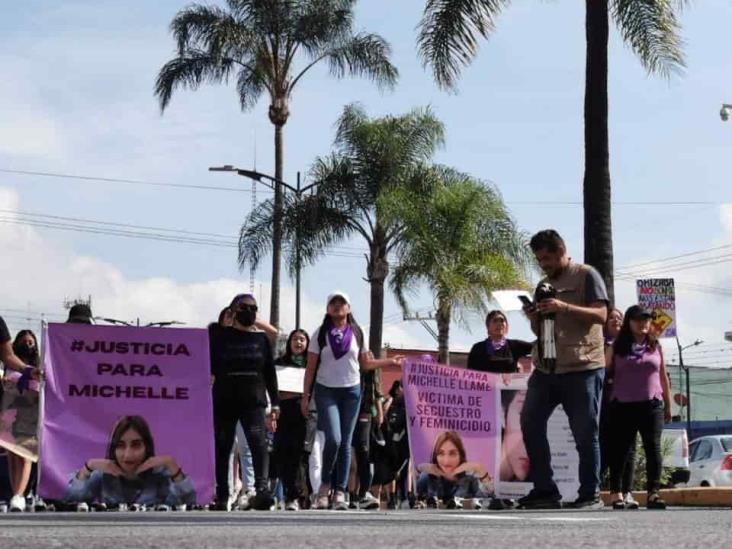
[[[325,433],[321,482],[342,492],[351,470],[351,439],[361,405],[361,385],[326,387],[315,384],[318,429]]]

